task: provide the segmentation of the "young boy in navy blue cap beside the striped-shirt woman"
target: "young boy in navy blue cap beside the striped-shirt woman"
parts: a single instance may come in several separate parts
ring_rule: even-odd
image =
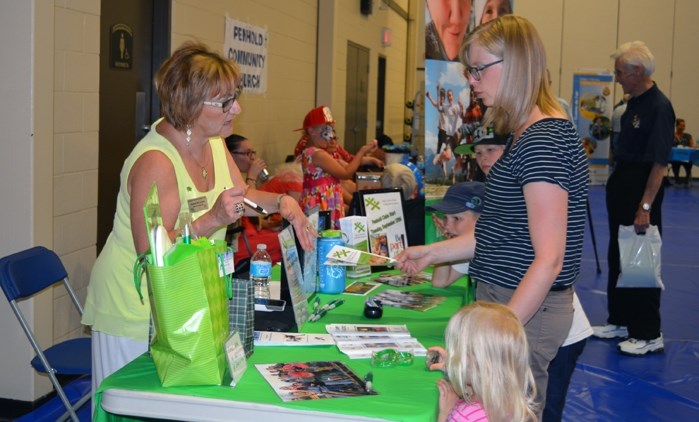
[[[440,233],[449,239],[472,233],[484,204],[484,183],[461,182],[447,189],[442,202],[429,205],[427,209],[444,214],[444,218],[440,218],[436,213],[432,213],[432,220]],[[468,262],[436,266],[432,272],[432,285],[447,287],[464,274],[468,274]]]

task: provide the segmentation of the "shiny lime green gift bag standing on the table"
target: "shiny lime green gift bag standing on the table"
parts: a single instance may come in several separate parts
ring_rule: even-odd
[[[148,280],[155,368],[164,387],[220,385],[227,367],[228,295],[217,255],[228,247],[199,238],[175,248],[177,259],[156,266],[148,257],[134,270],[139,292],[144,269]]]

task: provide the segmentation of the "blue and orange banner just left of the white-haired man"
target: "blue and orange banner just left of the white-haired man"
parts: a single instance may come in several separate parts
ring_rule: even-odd
[[[609,177],[614,77],[608,71],[573,74],[573,121],[590,165],[590,184],[603,185]]]

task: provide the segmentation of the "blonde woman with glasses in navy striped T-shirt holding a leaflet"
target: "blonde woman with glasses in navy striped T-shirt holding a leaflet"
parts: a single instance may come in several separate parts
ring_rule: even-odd
[[[509,306],[524,325],[537,398],[570,330],[580,273],[588,167],[580,136],[551,92],[534,26],[506,15],[476,28],[462,49],[465,76],[488,107],[484,126],[506,135],[488,173],[474,235],[408,248],[397,267],[471,259],[478,300]],[[543,409],[543,406],[541,407]]]

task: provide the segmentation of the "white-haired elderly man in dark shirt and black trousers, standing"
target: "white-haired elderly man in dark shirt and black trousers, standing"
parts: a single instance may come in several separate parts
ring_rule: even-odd
[[[632,356],[664,350],[659,288],[617,288],[620,274],[619,226],[637,233],[649,225],[662,233],[663,176],[672,150],[675,111],[652,79],[655,57],[641,41],[613,54],[614,77],[630,98],[621,117],[616,168],[607,181],[609,279],[607,324],[593,327],[600,338],[627,338],[619,352]]]

